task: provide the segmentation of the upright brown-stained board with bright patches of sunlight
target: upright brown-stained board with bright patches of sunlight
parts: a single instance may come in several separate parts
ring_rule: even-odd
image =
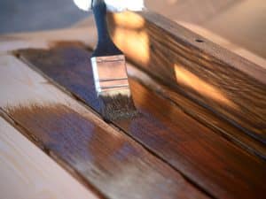
[[[109,15],[119,48],[176,92],[266,142],[266,69],[151,11]]]

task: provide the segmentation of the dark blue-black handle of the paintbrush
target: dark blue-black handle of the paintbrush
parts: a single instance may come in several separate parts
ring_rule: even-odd
[[[106,3],[103,0],[94,0],[92,7],[94,19],[98,30],[98,44],[96,50],[92,53],[92,57],[103,57],[122,54],[113,43],[108,33],[106,23]]]

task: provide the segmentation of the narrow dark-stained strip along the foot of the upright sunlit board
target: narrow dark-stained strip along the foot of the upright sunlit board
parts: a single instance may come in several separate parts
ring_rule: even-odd
[[[219,119],[219,117],[215,116],[211,111],[208,111],[199,104],[192,102],[185,96],[175,92],[175,90],[160,84],[160,81],[154,80],[136,67],[130,67],[129,73],[132,77],[140,81],[141,84],[145,85],[145,87],[150,88],[153,92],[156,92],[165,99],[170,100],[171,103],[175,103],[192,118],[197,119],[205,126],[210,127],[216,133],[223,135],[223,137],[227,140],[235,143],[249,153],[266,160],[266,147],[262,142],[258,142],[250,136],[243,134],[239,128],[231,126],[229,122],[223,119]]]

